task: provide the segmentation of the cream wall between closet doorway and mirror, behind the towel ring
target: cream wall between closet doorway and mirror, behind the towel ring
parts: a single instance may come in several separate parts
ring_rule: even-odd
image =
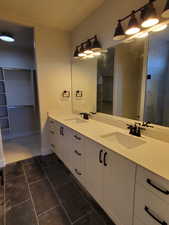
[[[62,92],[71,91],[71,42],[68,32],[35,28],[37,80],[42,131],[42,153],[48,153],[47,112],[71,112],[71,98]]]

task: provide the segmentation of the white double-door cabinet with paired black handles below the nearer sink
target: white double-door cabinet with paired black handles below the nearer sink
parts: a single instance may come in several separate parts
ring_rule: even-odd
[[[86,188],[117,225],[131,225],[136,165],[86,140]]]

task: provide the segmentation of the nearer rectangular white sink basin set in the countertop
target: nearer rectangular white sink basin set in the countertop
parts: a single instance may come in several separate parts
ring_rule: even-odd
[[[146,143],[140,137],[133,137],[120,132],[109,133],[101,136],[101,138],[104,138],[109,142],[118,142],[118,144],[128,149],[136,148]]]

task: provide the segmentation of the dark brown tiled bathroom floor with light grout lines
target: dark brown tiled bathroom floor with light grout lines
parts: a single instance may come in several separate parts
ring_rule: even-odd
[[[0,225],[114,225],[54,154],[9,164]]]

